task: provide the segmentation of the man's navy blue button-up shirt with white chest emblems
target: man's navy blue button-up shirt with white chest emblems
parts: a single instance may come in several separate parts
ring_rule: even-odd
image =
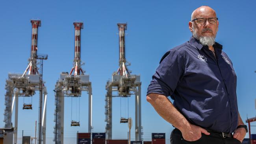
[[[236,73],[232,62],[213,45],[216,58],[195,38],[169,50],[148,86],[150,93],[171,96],[191,124],[231,133],[238,124]]]

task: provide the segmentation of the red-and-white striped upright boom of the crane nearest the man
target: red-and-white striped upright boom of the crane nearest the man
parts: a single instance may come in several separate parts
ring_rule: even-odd
[[[125,30],[127,30],[127,24],[118,23],[119,29],[119,74],[121,76],[127,76],[126,73],[126,59],[125,59]]]

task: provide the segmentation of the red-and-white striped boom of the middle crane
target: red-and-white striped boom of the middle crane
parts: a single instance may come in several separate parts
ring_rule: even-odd
[[[72,68],[70,75],[74,70],[74,75],[80,75],[80,71],[83,73],[81,68],[81,29],[83,29],[83,22],[74,22],[75,27],[75,58],[74,67]]]

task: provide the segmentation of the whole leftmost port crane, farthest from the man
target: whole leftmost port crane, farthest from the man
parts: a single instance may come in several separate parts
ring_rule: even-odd
[[[37,37],[38,27],[41,26],[41,20],[30,20],[32,23],[32,44],[31,55],[28,59],[29,64],[23,74],[8,74],[6,80],[5,94],[5,110],[4,123],[5,128],[13,128],[13,133],[9,133],[4,138],[6,144],[17,143],[18,129],[18,103],[19,97],[32,97],[35,91],[39,91],[39,115],[38,115],[38,137],[37,144],[45,144],[46,140],[46,100],[47,90],[43,81],[43,60],[48,58],[48,55],[37,54]],[[40,68],[37,66],[37,60],[40,61]],[[39,70],[39,71],[38,71]],[[12,113],[15,106],[15,122],[12,126]],[[23,103],[23,109],[32,109],[32,103]]]

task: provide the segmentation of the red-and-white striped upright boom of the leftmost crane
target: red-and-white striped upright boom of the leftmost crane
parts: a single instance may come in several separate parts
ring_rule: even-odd
[[[41,26],[41,20],[30,20],[32,23],[32,42],[31,42],[31,56],[30,68],[28,74],[36,74],[37,71],[37,36],[38,27]]]

